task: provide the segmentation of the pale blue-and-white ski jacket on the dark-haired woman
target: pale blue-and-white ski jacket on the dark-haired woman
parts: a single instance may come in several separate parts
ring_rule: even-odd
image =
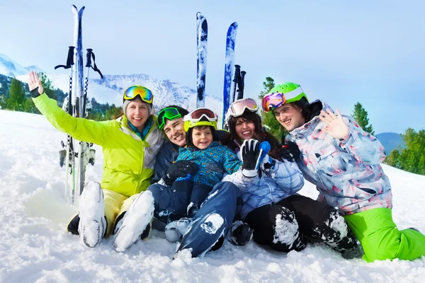
[[[239,187],[242,199],[239,216],[242,220],[256,208],[275,204],[290,195],[295,195],[304,185],[304,178],[297,163],[278,161],[270,156],[268,158],[274,161],[273,167],[259,169],[261,173],[255,178],[244,177],[242,171],[223,178],[223,181],[232,182]]]

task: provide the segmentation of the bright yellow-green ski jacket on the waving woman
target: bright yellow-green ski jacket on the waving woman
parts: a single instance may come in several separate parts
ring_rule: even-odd
[[[35,106],[56,129],[79,141],[102,146],[103,173],[101,187],[130,197],[150,185],[154,161],[164,143],[164,134],[152,119],[143,141],[128,127],[125,115],[117,120],[96,122],[69,115],[45,94],[33,98]]]

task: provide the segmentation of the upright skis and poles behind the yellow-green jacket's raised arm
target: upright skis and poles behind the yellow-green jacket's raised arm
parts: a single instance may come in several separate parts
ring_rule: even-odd
[[[101,71],[97,68],[93,50],[87,49],[86,56],[86,74],[84,81],[84,63],[82,50],[82,26],[81,20],[84,12],[84,6],[78,8],[72,5],[72,13],[74,13],[74,46],[70,46],[67,56],[66,65],[58,65],[55,69],[69,69],[69,93],[64,100],[63,108],[72,117],[86,118],[91,110],[91,103],[87,99],[87,88],[89,86],[89,70],[90,68],[97,71],[103,79]],[[93,64],[92,64],[93,62]],[[84,180],[86,174],[86,166],[91,163],[94,165],[95,151],[91,149],[93,144],[85,141],[77,141],[69,134],[67,135],[67,144],[62,141],[62,147],[66,148],[60,151],[60,166],[65,163],[65,199],[74,200],[81,195],[84,188]],[[69,182],[69,175],[72,176]],[[69,183],[71,186],[69,187]]]

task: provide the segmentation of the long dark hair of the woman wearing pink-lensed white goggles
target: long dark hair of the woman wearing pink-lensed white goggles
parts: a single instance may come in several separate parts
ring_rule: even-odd
[[[255,112],[251,112],[249,110],[245,110],[241,116],[238,117],[230,117],[229,119],[229,130],[230,134],[227,137],[228,140],[223,142],[233,151],[239,149],[239,144],[242,144],[241,139],[237,136],[236,133],[236,123],[238,121],[246,122],[251,121],[254,122],[255,130],[254,130],[254,139],[261,141],[268,141],[270,143],[271,149],[268,151],[268,155],[275,159],[280,159],[280,151],[279,151],[279,141],[276,139],[273,134],[267,132],[266,129],[261,127],[261,117],[257,115]]]

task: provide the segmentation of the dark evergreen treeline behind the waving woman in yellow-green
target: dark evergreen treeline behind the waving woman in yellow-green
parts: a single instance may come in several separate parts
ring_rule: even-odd
[[[52,81],[47,79],[45,74],[40,73],[38,75],[40,76],[46,95],[55,99],[57,105],[62,107],[68,93],[64,93],[59,88],[52,86]],[[94,98],[91,98],[91,105],[89,119],[96,121],[110,120],[112,117],[120,114],[122,109],[121,107],[116,107],[114,104],[98,103]],[[4,75],[0,75],[0,109],[40,114],[30,97],[28,85],[18,79]]]

